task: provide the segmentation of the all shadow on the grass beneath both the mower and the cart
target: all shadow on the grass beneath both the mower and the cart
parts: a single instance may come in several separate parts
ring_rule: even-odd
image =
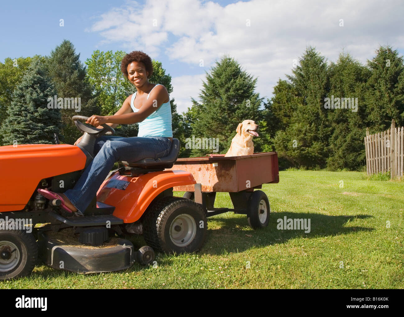
[[[303,230],[279,230],[277,229],[278,219],[310,219],[310,232]],[[313,213],[271,213],[269,225],[263,229],[251,229],[248,227],[246,217],[241,218],[223,218],[215,216],[208,219],[219,222],[220,228],[208,229],[206,242],[198,254],[225,255],[229,252],[243,252],[252,247],[265,247],[273,244],[282,244],[295,238],[318,238],[326,236],[337,236],[341,234],[354,234],[359,231],[372,231],[373,228],[366,227],[346,227],[345,225],[354,219],[366,219],[373,217],[371,215],[353,215],[353,216],[328,216]],[[252,237],[246,236],[246,234]],[[146,245],[143,236],[124,236],[122,238],[130,240],[138,250]],[[176,260],[173,255],[166,255],[156,252],[158,264],[160,266],[170,266]],[[42,263],[43,264],[43,263]],[[135,263],[129,269],[117,271],[119,273],[137,272],[149,269],[149,266],[142,266]],[[72,272],[52,269],[45,266],[40,272],[34,272],[32,277],[44,279],[52,277],[67,277]],[[100,273],[80,274],[80,275],[99,275]],[[109,274],[109,273],[105,273]]]

